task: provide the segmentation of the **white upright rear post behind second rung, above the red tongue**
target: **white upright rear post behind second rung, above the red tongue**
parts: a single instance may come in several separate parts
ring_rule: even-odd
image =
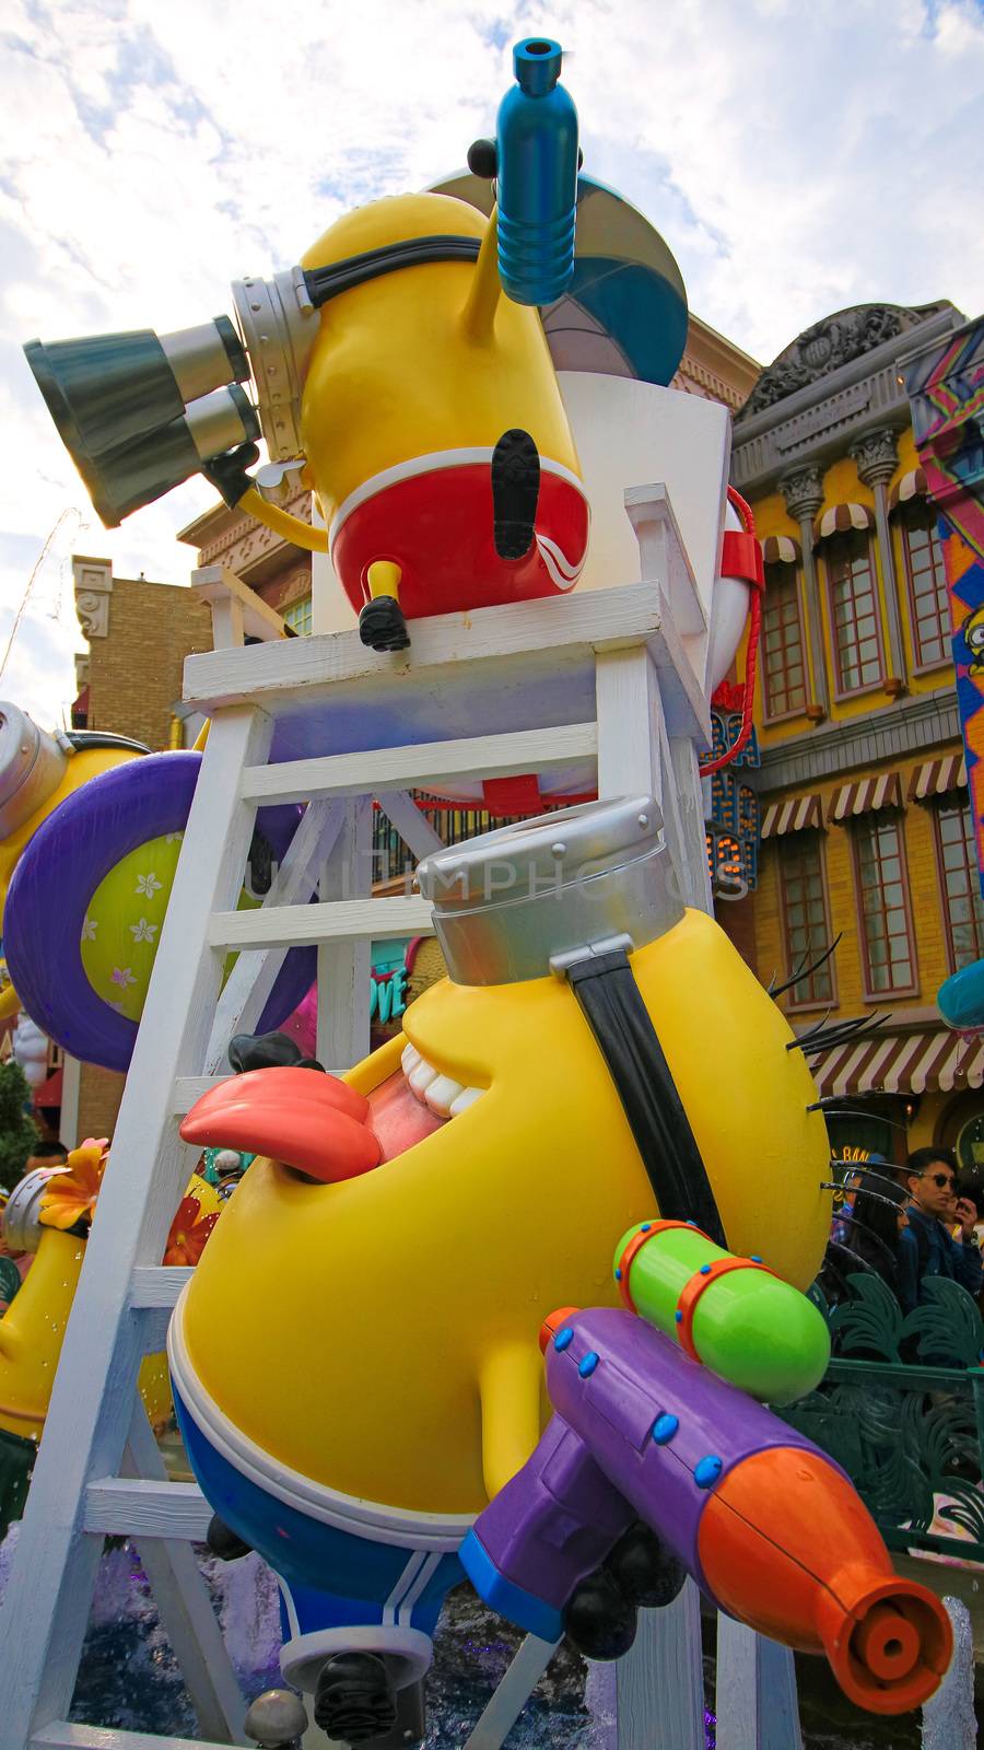
[[[327,912],[334,905],[338,912],[350,914],[361,905],[373,914],[376,906],[394,903],[368,898],[373,882],[373,803],[369,796],[357,796],[343,807],[345,826],[319,884],[322,903],[308,910]],[[387,931],[376,929],[375,934]],[[331,942],[319,943],[317,1055],[333,1074],[343,1074],[369,1054],[371,971],[371,936],[345,931]]]

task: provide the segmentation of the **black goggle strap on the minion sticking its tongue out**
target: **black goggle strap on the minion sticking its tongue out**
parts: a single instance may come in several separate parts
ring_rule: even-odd
[[[721,1216],[671,1068],[623,948],[566,968],[592,1029],[650,1185],[667,1222],[695,1222],[727,1246]]]

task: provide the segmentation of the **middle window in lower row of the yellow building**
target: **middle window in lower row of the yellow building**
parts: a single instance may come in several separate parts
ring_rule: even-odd
[[[916,947],[902,817],[889,810],[863,816],[853,828],[868,996],[914,996]]]

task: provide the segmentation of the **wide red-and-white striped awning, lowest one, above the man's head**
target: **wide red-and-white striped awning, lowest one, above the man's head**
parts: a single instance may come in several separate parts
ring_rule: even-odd
[[[951,1094],[984,1085],[984,1040],[940,1027],[935,1032],[877,1032],[839,1045],[812,1064],[828,1094]]]

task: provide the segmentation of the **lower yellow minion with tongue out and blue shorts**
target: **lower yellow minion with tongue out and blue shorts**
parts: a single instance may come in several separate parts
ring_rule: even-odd
[[[343,1080],[249,1069],[182,1125],[264,1157],[172,1320],[186,1447],[348,1743],[392,1729],[460,1538],[538,1440],[545,1314],[613,1304],[611,1246],[657,1211],[800,1288],[828,1228],[811,1074],[676,898],[650,798],[436,852],[420,886],[450,978],[403,1036]]]

